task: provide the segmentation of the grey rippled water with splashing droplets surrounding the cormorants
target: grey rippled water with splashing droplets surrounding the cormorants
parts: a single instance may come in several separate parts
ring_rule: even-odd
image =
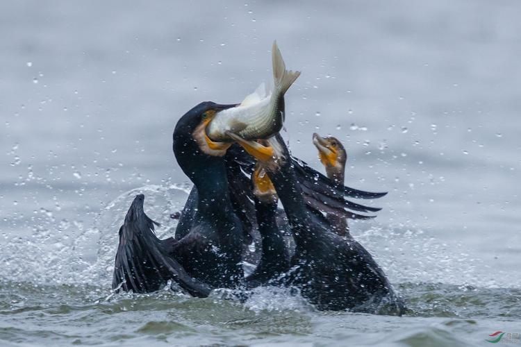
[[[1,344],[474,346],[521,332],[520,10],[1,3]],[[270,82],[274,39],[302,70],[286,98],[292,152],[320,168],[311,134],[334,135],[349,185],[390,192],[352,232],[404,296],[404,317],[317,312],[268,288],[244,304],[110,291],[133,195],[147,196],[160,235],[175,228],[168,214],[189,189],[176,120]]]

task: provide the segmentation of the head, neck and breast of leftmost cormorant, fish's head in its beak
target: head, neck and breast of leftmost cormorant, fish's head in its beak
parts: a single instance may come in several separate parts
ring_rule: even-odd
[[[174,155],[197,194],[190,194],[190,223],[172,255],[190,276],[212,287],[235,288],[244,278],[244,232],[229,196],[223,158],[231,144],[213,142],[206,135],[215,113],[234,106],[199,103],[179,119],[173,134]]]

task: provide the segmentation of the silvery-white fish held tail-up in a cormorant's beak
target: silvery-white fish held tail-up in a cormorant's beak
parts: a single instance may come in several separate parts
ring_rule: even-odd
[[[279,133],[286,118],[284,94],[300,76],[300,71],[286,69],[276,41],[272,46],[272,65],[272,92],[267,92],[263,83],[239,105],[217,112],[206,126],[206,135],[210,139],[215,142],[234,142],[228,132],[248,140],[267,139]]]

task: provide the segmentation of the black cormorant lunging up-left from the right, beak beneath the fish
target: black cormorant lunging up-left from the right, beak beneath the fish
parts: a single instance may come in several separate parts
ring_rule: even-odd
[[[286,211],[296,244],[288,284],[298,287],[319,310],[402,314],[402,301],[370,253],[353,239],[330,232],[322,214],[305,208],[303,189],[281,136],[263,146],[229,135],[263,164]]]

